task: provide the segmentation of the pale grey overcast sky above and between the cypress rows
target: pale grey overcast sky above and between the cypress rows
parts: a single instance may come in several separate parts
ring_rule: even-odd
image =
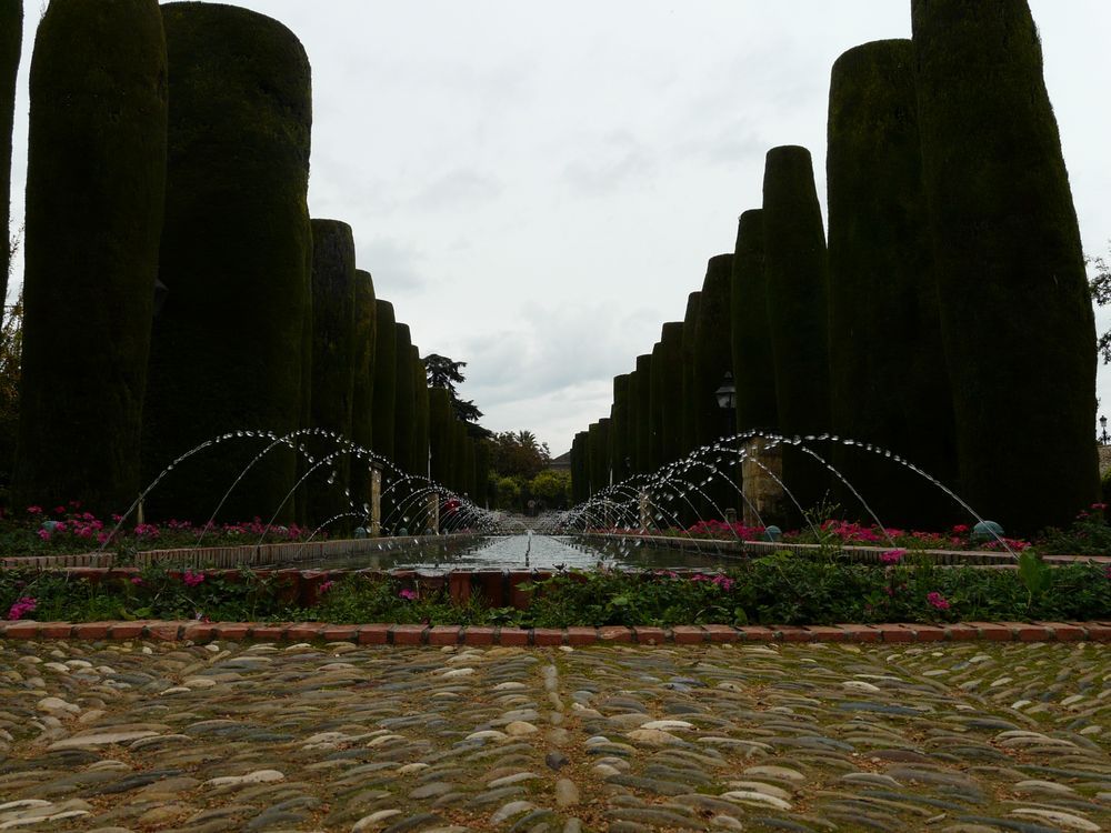
[[[351,224],[421,354],[468,362],[460,393],[484,425],[553,454],[609,415],[612,378],[732,251],[769,148],[810,149],[824,208],[830,68],[910,37],[909,0],[238,4],[282,21],[312,63],[312,217]],[[1030,4],[1084,248],[1107,255],[1111,2]],[[40,16],[24,6],[14,228]],[[1100,395],[1111,410],[1111,373]]]

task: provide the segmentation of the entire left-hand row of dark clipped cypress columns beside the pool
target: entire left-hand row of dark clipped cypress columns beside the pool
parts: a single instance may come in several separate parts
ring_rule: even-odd
[[[121,512],[181,454],[244,430],[260,433],[167,472],[147,514],[204,521],[242,476],[219,519],[353,526],[370,459],[337,436],[417,475],[436,436],[441,484],[486,483],[453,412],[432,421],[419,350],[351,228],[309,218],[292,32],[229,6],[52,0],[30,88],[16,505]],[[262,454],[262,431],[290,446]],[[411,489],[392,472],[387,511]]]

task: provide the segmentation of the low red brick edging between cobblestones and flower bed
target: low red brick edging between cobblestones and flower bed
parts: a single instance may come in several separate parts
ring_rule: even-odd
[[[839,625],[604,625],[601,628],[480,628],[471,625],[321,622],[0,622],[6,640],[157,640],[177,642],[356,642],[363,645],[695,645],[711,642],[1111,642],[1111,622],[957,622]]]

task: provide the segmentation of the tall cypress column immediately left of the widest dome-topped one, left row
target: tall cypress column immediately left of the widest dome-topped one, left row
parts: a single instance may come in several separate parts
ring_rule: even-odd
[[[18,506],[77,499],[107,514],[124,511],[139,493],[166,200],[161,23],[154,0],[103,0],[51,3],[39,24],[30,76]]]

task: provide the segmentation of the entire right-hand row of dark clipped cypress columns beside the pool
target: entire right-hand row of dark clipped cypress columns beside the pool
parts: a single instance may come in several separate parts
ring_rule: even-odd
[[[712,395],[724,369],[738,431],[872,443],[1008,531],[1065,524],[1098,500],[1094,323],[1030,10],[911,7],[912,40],[867,43],[833,66],[828,247],[810,153],[773,148],[732,255],[710,260],[682,324],[664,324],[652,355],[614,379],[608,440],[593,426],[575,436],[579,500],[728,433]],[[663,359],[675,328],[678,368]],[[677,426],[664,409],[679,391]],[[889,525],[969,519],[882,453],[814,449]],[[791,448],[783,480],[803,506],[832,491],[864,516]]]

